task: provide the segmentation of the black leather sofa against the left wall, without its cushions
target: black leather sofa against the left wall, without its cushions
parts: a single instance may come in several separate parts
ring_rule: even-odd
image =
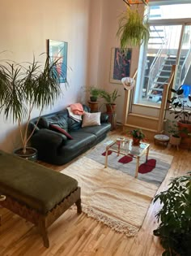
[[[83,105],[83,109],[90,112],[86,105]],[[106,114],[100,116],[101,125],[82,127],[82,121],[76,122],[70,118],[67,109],[41,116],[37,126],[36,121],[37,118],[32,119],[29,124],[30,131],[36,128],[30,140],[31,146],[38,150],[38,159],[57,165],[68,163],[91,149],[104,140],[111,128]],[[67,139],[62,133],[51,130],[50,124],[58,124],[69,132],[73,139]]]

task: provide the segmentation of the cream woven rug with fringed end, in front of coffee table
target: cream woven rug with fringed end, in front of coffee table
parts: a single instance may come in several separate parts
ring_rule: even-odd
[[[79,181],[84,213],[126,236],[138,233],[158,189],[87,157],[61,172]]]

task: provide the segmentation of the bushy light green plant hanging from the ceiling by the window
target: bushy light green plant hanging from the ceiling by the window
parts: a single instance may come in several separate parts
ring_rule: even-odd
[[[119,19],[117,37],[120,39],[121,48],[140,46],[143,41],[148,41],[150,35],[149,25],[144,22],[138,9],[130,10],[129,7]]]

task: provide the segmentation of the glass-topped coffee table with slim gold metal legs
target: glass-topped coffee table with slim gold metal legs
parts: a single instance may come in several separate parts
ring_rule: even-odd
[[[129,155],[132,158],[137,159],[136,170],[134,177],[138,177],[138,167],[139,167],[139,159],[143,154],[146,154],[146,162],[149,155],[149,147],[150,144],[145,142],[140,142],[138,145],[133,145],[133,141],[125,138],[117,138],[116,141],[110,141],[108,145],[106,145],[106,154],[105,154],[105,165],[104,167],[108,167],[108,151],[116,152],[117,156],[119,154]]]

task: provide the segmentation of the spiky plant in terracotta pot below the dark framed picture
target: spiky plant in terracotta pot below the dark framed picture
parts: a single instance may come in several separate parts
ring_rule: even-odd
[[[121,95],[118,94],[118,90],[117,89],[114,89],[112,91],[112,93],[109,93],[108,91],[106,90],[102,90],[102,92],[100,93],[100,97],[101,98],[104,98],[105,100],[105,106],[106,106],[106,109],[107,109],[107,113],[113,113],[115,112],[115,109],[116,109],[116,100],[118,97],[120,97]]]

